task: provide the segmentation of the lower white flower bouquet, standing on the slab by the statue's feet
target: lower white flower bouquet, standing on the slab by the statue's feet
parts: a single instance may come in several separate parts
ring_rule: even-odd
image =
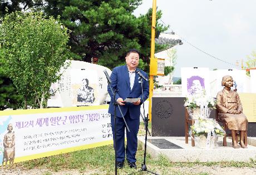
[[[197,136],[197,144],[200,148],[214,148],[217,145],[218,136],[224,136],[225,131],[214,119],[198,119],[191,126],[190,134]]]

